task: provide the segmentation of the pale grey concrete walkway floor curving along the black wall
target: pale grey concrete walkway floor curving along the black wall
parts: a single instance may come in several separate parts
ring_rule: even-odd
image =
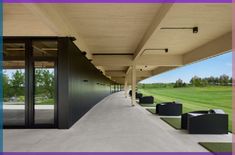
[[[123,92],[112,94],[69,130],[4,130],[4,151],[206,152],[198,142],[231,142],[232,135],[189,135],[143,107],[130,106]]]

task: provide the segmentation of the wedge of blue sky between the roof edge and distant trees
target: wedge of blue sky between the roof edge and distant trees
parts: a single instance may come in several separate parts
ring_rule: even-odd
[[[140,83],[170,83],[178,79],[189,83],[195,75],[204,78],[209,76],[218,77],[222,74],[232,76],[232,52],[152,76]]]

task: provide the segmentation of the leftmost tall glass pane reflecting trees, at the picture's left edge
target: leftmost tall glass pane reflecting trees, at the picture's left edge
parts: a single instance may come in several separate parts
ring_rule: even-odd
[[[3,45],[3,124],[25,125],[25,45]]]

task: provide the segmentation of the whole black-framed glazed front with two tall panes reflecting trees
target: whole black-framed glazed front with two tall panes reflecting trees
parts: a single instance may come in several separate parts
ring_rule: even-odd
[[[57,127],[57,52],[54,39],[4,38],[3,127]]]

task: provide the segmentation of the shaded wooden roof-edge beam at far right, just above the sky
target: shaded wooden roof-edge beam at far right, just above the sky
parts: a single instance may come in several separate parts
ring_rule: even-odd
[[[226,33],[183,55],[183,63],[204,60],[232,49],[232,32]]]

